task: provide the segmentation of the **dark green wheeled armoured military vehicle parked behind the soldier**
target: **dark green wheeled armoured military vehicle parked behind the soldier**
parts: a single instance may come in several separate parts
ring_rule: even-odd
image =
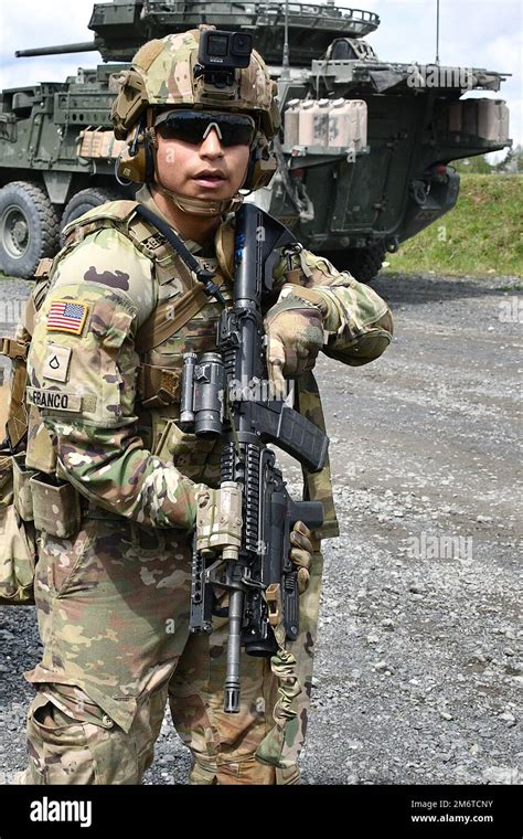
[[[114,0],[94,6],[93,41],[18,52],[99,51],[105,63],[0,95],[0,270],[31,277],[67,222],[134,194],[114,177],[119,74],[149,39],[200,23],[252,32],[278,82],[279,169],[252,200],[362,282],[455,206],[449,161],[512,145],[503,102],[460,98],[499,91],[506,74],[382,61],[363,40],[380,24],[372,12],[331,2],[285,12],[284,2]]]

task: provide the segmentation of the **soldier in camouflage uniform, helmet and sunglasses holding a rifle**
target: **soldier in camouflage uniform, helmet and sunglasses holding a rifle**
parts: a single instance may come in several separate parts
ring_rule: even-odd
[[[199,40],[198,30],[169,35],[135,56],[113,120],[130,144],[120,172],[143,187],[136,201],[105,204],[65,231],[35,322],[26,466],[40,472],[44,655],[25,675],[36,695],[19,783],[140,783],[167,701],[192,753],[191,783],[299,783],[320,538],[338,533],[328,466],[305,476],[307,497],[324,503],[321,531],[298,523],[291,537],[302,592],[291,689],[270,661],[244,656],[241,712],[225,714],[227,619],[210,636],[188,629],[196,499],[220,491],[221,444],[196,443],[177,424],[180,370],[183,352],[216,349],[221,307],[211,298],[191,309],[194,277],[137,206],[167,222],[231,300],[239,190],[270,179],[279,126],[262,57],[253,51],[235,71],[227,98],[194,73]],[[388,344],[392,318],[372,289],[305,249],[282,255],[274,280],[269,373],[297,378],[299,411],[321,425],[311,373],[319,350],[366,363]]]

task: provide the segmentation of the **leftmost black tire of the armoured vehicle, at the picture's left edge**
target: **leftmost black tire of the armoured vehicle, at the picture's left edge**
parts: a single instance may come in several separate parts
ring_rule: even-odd
[[[39,261],[58,247],[58,216],[45,190],[32,181],[0,189],[0,270],[32,277]]]

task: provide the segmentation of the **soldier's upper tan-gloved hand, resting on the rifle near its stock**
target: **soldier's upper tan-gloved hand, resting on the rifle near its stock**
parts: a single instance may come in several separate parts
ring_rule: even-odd
[[[267,368],[269,379],[282,386],[285,376],[312,370],[323,346],[323,319],[314,304],[292,294],[267,312]]]

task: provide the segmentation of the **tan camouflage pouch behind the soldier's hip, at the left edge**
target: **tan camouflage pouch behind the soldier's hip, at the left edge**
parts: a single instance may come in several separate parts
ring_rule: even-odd
[[[0,452],[0,605],[34,604],[36,540],[14,503],[14,458]]]

